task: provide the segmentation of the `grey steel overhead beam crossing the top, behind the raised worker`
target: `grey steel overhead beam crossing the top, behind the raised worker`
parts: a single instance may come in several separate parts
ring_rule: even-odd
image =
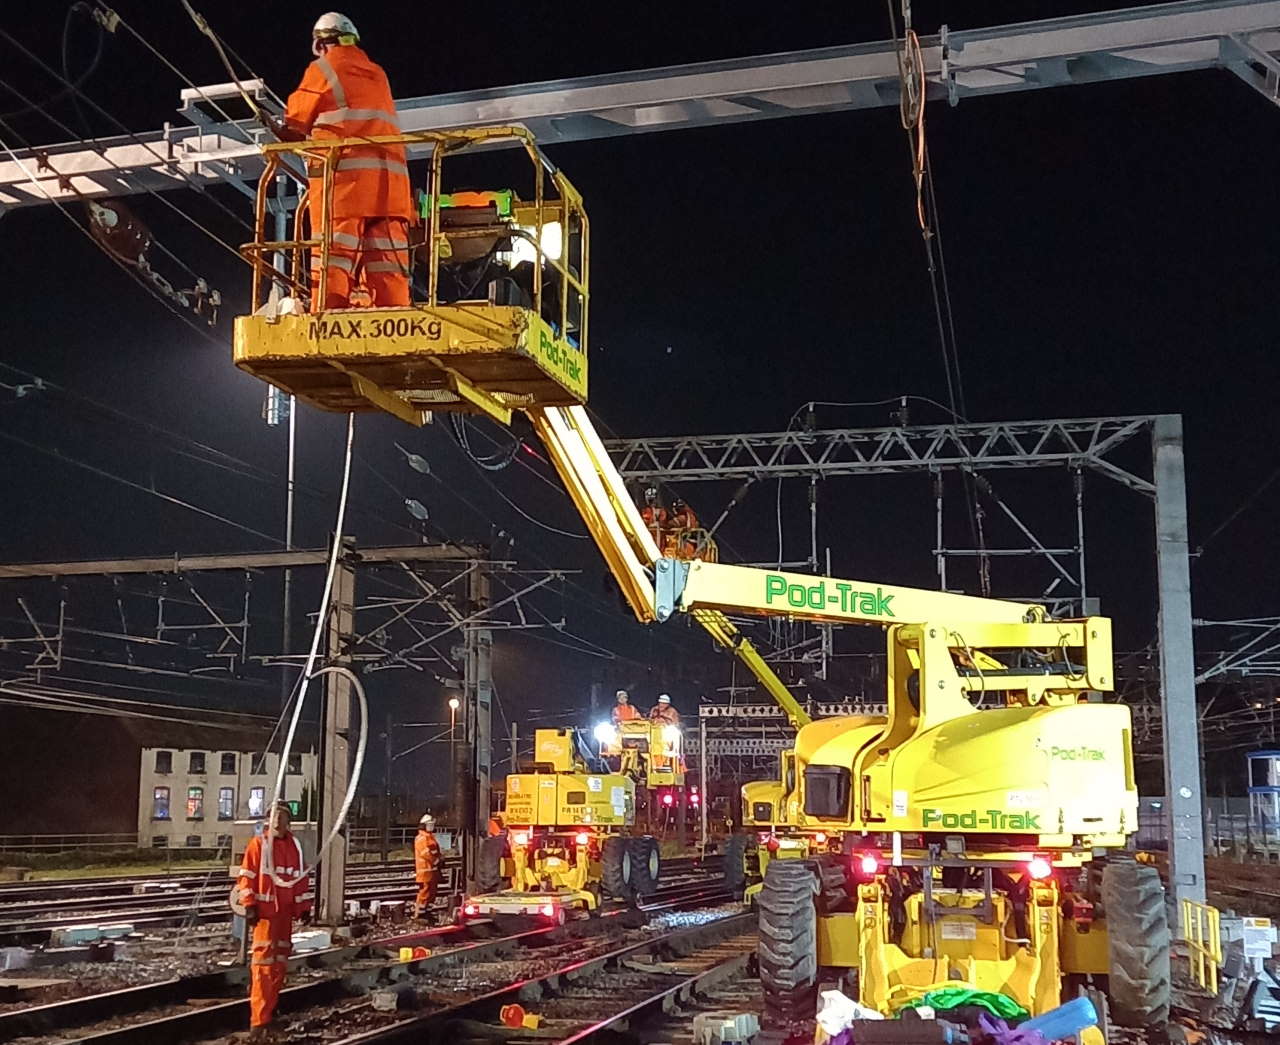
[[[931,99],[1226,69],[1280,102],[1280,0],[1189,0],[922,41]],[[262,85],[246,85],[270,106]],[[0,158],[0,209],[83,196],[229,182],[252,192],[262,169],[256,122],[215,119],[236,85],[186,90],[179,115],[137,136],[76,141]],[[664,69],[401,99],[404,131],[522,124],[547,143],[872,109],[899,102],[893,44],[881,41]]]

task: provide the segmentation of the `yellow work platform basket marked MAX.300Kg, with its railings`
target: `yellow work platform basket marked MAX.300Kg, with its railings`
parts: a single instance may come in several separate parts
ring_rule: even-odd
[[[378,143],[430,163],[410,236],[413,304],[317,310],[333,246],[334,168],[344,149]],[[522,147],[531,161],[531,202],[512,190],[444,192],[445,156],[499,145]],[[512,410],[586,401],[586,214],[526,131],[282,142],[264,151],[257,236],[242,248],[253,265],[253,314],[236,320],[237,366],[323,410],[383,410],[412,424],[435,410],[508,421]],[[484,159],[503,155],[511,154]],[[268,187],[293,169],[291,156],[311,175],[306,205],[292,239],[279,216],[268,238]],[[308,271],[317,273],[314,284]],[[357,286],[353,302],[360,293]]]

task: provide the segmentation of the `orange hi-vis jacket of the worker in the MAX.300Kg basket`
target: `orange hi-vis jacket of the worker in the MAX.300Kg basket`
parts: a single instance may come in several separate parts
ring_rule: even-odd
[[[383,67],[353,44],[330,47],[308,67],[284,113],[289,127],[317,141],[398,134],[396,101]],[[312,173],[319,173],[314,170]],[[311,179],[312,214],[321,183]],[[412,218],[402,145],[342,150],[333,177],[330,218]]]

